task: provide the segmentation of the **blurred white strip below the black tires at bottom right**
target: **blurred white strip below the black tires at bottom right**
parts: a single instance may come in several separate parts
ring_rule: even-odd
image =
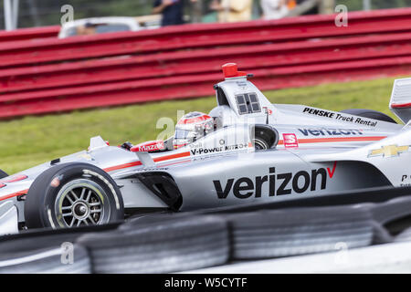
[[[189,274],[411,273],[410,242],[340,249],[331,253],[240,262],[190,270]]]

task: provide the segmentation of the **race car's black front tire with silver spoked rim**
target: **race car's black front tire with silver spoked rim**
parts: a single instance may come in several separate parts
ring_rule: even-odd
[[[89,163],[63,163],[41,173],[26,195],[27,228],[100,225],[124,219],[111,176]]]

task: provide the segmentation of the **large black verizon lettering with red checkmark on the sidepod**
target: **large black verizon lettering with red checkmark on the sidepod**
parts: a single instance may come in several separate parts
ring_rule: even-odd
[[[229,193],[233,193],[238,199],[248,199],[251,196],[260,198],[264,184],[269,185],[269,196],[285,195],[290,193],[306,193],[327,188],[327,177],[332,179],[337,167],[334,162],[330,168],[320,168],[311,172],[285,172],[276,173],[275,167],[269,168],[269,174],[249,177],[241,177],[237,180],[228,179],[226,183],[219,180],[213,181],[218,199],[226,199]]]

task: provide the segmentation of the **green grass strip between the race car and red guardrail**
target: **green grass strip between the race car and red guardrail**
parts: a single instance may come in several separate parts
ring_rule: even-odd
[[[393,116],[388,110],[393,81],[394,78],[384,78],[265,94],[273,103],[306,104],[329,110],[372,109]],[[8,173],[19,172],[87,149],[90,137],[96,135],[109,140],[111,145],[153,140],[163,131],[156,129],[159,118],[169,117],[175,121],[177,110],[208,112],[215,106],[216,99],[210,97],[2,121],[0,169]]]

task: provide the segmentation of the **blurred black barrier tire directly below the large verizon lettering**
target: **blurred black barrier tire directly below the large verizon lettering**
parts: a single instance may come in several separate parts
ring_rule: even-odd
[[[237,214],[231,223],[233,259],[272,258],[371,245],[371,214],[352,207],[324,207]]]

